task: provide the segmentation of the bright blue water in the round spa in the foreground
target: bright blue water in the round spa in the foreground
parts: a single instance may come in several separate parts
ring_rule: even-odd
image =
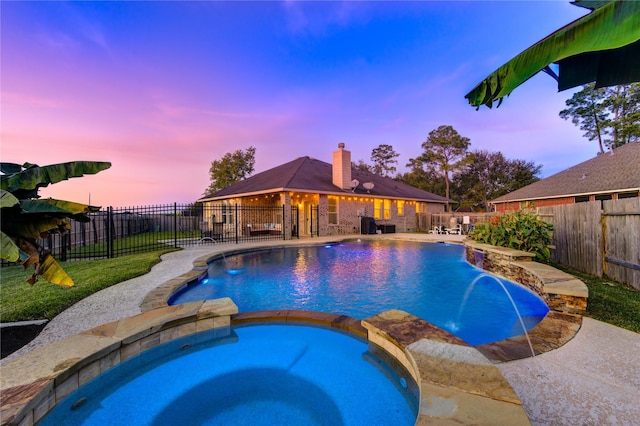
[[[413,425],[417,387],[342,332],[215,330],[155,347],[61,401],[40,425]]]

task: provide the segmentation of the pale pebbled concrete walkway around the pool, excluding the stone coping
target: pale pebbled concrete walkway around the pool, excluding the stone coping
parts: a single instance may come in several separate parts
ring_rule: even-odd
[[[394,238],[416,239],[416,235],[395,234]],[[335,238],[314,239],[319,243],[330,240]],[[165,254],[150,273],[102,290],[56,316],[36,339],[0,364],[81,331],[139,314],[147,293],[190,271],[193,260],[219,250],[252,246],[216,244]],[[496,366],[518,394],[533,425],[631,426],[640,419],[638,360],[640,334],[584,318],[576,337],[560,349]]]

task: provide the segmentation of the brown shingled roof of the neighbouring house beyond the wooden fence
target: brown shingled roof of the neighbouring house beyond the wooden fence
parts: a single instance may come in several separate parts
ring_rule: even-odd
[[[639,164],[640,142],[631,142],[491,202],[640,191]]]

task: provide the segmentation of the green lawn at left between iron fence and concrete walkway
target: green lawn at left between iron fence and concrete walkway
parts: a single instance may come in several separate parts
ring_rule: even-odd
[[[121,256],[112,259],[62,262],[62,267],[75,282],[73,287],[60,287],[40,278],[30,286],[21,266],[0,269],[0,321],[52,319],[74,303],[114,284],[148,273],[160,262],[160,256],[174,251],[159,251]]]

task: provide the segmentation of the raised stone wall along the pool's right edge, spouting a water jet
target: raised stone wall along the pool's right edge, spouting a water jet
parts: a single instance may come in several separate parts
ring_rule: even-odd
[[[550,310],[580,315],[586,311],[586,284],[573,275],[534,262],[534,254],[469,240],[464,246],[469,263],[528,287],[544,299]]]

